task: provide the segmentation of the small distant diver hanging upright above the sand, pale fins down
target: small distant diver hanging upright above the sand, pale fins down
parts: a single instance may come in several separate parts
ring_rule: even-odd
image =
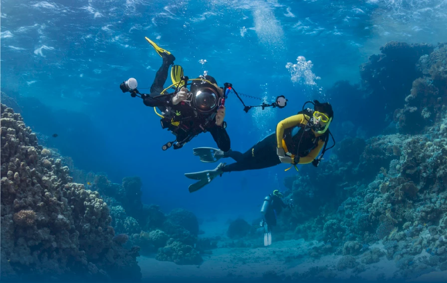
[[[264,220],[259,223],[264,228],[264,246],[271,245],[271,227],[276,226],[276,217],[281,213],[283,208],[291,209],[293,207],[293,200],[290,200],[288,204],[282,201],[283,193],[278,190],[274,190],[264,198],[262,203],[261,213],[264,216]]]

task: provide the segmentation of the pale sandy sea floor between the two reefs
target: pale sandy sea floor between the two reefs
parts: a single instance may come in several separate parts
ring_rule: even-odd
[[[154,257],[140,256],[138,263],[142,272],[143,282],[172,282],[172,281],[207,281],[216,282],[226,279],[227,282],[235,281],[260,281],[264,273],[275,272],[279,277],[290,276],[296,278],[296,274],[302,274],[311,267],[328,267],[335,273],[335,280],[349,280],[355,274],[353,269],[337,271],[335,268],[342,256],[328,255],[319,259],[313,259],[307,251],[316,241],[306,242],[304,239],[274,241],[269,247],[259,248],[227,248],[225,232],[228,227],[225,221],[228,217],[220,217],[213,221],[204,222],[201,229],[204,237],[221,236],[220,248],[214,249],[213,254],[203,255],[201,265],[177,265],[172,262],[161,262]],[[263,238],[259,238],[263,243]],[[261,244],[260,244],[261,245]],[[381,248],[381,245],[376,245]],[[376,282],[384,280],[399,280],[396,278],[396,264],[382,257],[375,264],[366,265],[366,270],[357,274],[356,281]],[[380,278],[378,278],[380,275]],[[265,278],[264,278],[265,279]],[[272,280],[270,282],[275,282]],[[399,280],[401,281],[401,280]],[[324,282],[324,280],[322,281]],[[432,272],[412,280],[402,282],[447,282],[447,271]]]

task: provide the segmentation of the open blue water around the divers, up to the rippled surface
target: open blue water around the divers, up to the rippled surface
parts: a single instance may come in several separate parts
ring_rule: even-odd
[[[185,75],[207,71],[241,93],[287,97],[284,109],[249,113],[235,96],[227,100],[231,147],[245,151],[313,98],[333,104],[336,140],[349,135],[342,127],[347,121],[364,137],[378,134],[374,116],[348,107],[355,97],[327,90],[338,80],[359,83],[359,65],[389,40],[442,41],[446,13],[442,0],[2,1],[1,90],[25,98],[25,123],[77,168],[105,172],[118,183],[140,176],[145,203],[166,212],[183,207],[199,217],[257,217],[262,198],[285,189],[283,178],[295,172],[285,165],[232,172],[190,194],[183,174],[215,165],[201,163],[192,148],[215,142],[201,134],[180,150],[162,151],[172,134],[161,129],[153,109],[120,91],[129,77],[150,87],[161,64],[144,37],[171,51]],[[301,66],[305,75],[286,68],[298,56],[312,62]]]

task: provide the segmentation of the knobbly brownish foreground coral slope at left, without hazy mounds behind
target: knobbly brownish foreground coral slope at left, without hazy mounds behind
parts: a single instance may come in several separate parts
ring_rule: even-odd
[[[138,281],[138,247],[113,241],[109,207],[1,104],[1,277]]]

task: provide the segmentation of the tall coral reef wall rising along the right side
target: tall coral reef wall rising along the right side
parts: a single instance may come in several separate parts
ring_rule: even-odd
[[[362,65],[369,97],[387,103],[382,114],[391,119],[398,109],[399,134],[346,135],[318,168],[284,180],[295,207],[280,221],[322,241],[311,257],[343,255],[335,269],[359,273],[386,256],[406,278],[446,267],[446,62],[444,44],[391,42]],[[403,66],[409,71],[393,74]]]

